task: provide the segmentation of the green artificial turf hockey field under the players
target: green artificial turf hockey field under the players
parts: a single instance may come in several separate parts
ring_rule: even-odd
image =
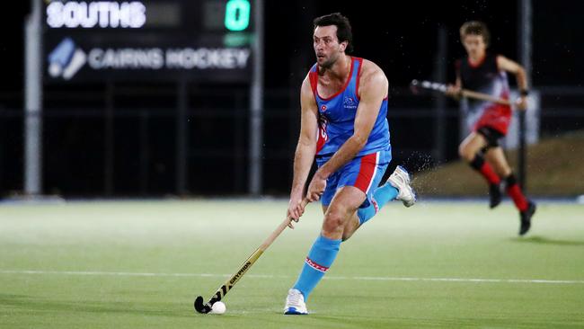
[[[284,299],[318,235],[310,205],[227,294],[194,313],[283,220],[287,202],[0,205],[0,328],[584,327],[584,206],[394,202],[341,245],[307,301]]]

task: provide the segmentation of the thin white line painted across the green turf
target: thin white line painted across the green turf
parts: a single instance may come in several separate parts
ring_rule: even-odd
[[[130,271],[39,271],[39,270],[0,270],[0,274],[50,274],[50,275],[93,275],[93,276],[127,276],[127,277],[198,277],[229,278],[229,274],[213,273],[149,273]],[[248,274],[246,278],[256,279],[290,279],[287,275]],[[436,282],[477,282],[477,283],[543,283],[543,284],[584,284],[584,280],[541,280],[541,279],[477,279],[477,278],[409,278],[409,277],[347,277],[328,276],[324,280],[362,280],[362,281],[436,281]]]

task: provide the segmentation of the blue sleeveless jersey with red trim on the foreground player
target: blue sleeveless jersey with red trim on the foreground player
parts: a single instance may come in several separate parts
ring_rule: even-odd
[[[359,74],[363,66],[363,58],[351,58],[350,78],[338,93],[329,98],[318,94],[318,66],[314,64],[309,73],[310,84],[314,99],[318,106],[318,141],[316,156],[318,158],[331,157],[353,135],[355,129],[355,115],[358,108]],[[389,125],[387,124],[387,99],[381,103],[377,120],[367,144],[357,156],[365,156],[378,151],[388,151],[391,155],[389,142]]]

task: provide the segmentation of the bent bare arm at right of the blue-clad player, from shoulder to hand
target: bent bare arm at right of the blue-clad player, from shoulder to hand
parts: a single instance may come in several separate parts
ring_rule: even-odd
[[[310,185],[306,198],[318,200],[326,187],[326,179],[343,164],[347,164],[367,144],[367,138],[376,122],[381,102],[387,96],[388,82],[384,72],[371,61],[363,61],[360,77],[359,104],[353,135],[339,148],[332,158],[321,166]]]

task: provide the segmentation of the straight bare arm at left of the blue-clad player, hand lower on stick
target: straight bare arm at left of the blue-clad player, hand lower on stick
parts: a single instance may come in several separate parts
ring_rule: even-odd
[[[304,213],[304,207],[301,203],[306,179],[314,161],[316,132],[318,131],[318,110],[308,76],[306,76],[300,90],[300,107],[300,137],[294,156],[294,179],[290,191],[290,203],[288,204],[288,216],[296,221]]]

